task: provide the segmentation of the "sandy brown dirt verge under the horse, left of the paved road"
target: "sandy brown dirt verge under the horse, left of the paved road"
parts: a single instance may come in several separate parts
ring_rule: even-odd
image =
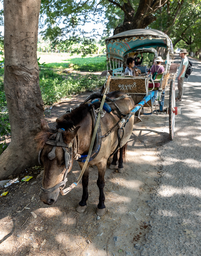
[[[52,109],[46,109],[45,119],[54,127],[58,116],[69,107],[77,106],[89,94],[62,99]],[[157,150],[168,143],[166,122],[167,116],[152,115],[143,116],[143,122],[134,125],[125,173],[106,170],[107,211],[101,219],[95,214],[99,196],[96,167],[90,168],[90,196],[83,214],[75,210],[81,199],[81,184],[68,195],[60,196],[50,207],[38,197],[41,167],[24,170],[20,179],[26,175],[33,178],[10,186],[9,194],[0,198],[0,255],[132,255],[134,245],[144,240],[151,226],[148,205],[160,176]],[[76,180],[79,172],[75,162],[68,175],[69,184]]]

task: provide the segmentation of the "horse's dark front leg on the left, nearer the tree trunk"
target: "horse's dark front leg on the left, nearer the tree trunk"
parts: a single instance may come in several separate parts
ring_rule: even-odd
[[[82,169],[83,164],[79,163]],[[76,211],[81,213],[84,212],[87,208],[87,199],[88,199],[88,181],[89,181],[89,165],[87,165],[84,174],[82,176],[82,188],[83,193],[81,197],[81,201],[79,202],[79,206],[77,206]]]

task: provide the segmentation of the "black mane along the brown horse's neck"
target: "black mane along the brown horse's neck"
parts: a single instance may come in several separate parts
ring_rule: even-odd
[[[93,103],[95,105],[95,109],[98,108],[100,103]],[[91,109],[92,104],[85,103],[80,105],[78,108],[73,109],[71,113],[66,113],[63,116],[57,118],[57,126],[56,128],[64,128],[66,131],[68,129],[71,129],[74,126],[78,125],[83,121],[83,119],[87,116],[89,113],[89,110]]]

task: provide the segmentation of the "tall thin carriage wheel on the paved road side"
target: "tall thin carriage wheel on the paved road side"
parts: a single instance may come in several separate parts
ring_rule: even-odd
[[[175,113],[173,112],[175,108],[175,85],[173,80],[170,82],[170,97],[169,97],[169,131],[170,140],[174,137],[174,123],[175,123]]]

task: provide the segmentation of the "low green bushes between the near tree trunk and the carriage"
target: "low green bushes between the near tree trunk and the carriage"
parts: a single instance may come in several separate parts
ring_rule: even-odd
[[[67,97],[72,93],[80,93],[103,85],[105,79],[96,75],[69,74],[63,77],[50,69],[42,69],[40,72],[39,85],[42,99],[45,105],[51,105],[60,98]]]

